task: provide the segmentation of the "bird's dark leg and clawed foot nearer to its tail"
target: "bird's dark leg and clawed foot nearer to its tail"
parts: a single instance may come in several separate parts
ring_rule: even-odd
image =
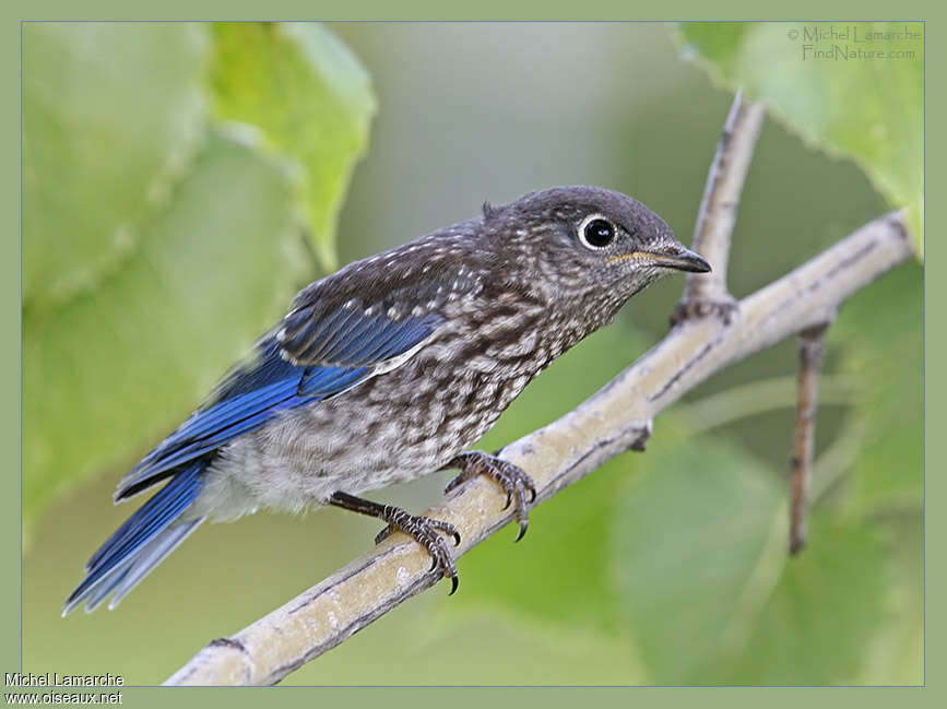
[[[411,515],[400,507],[380,505],[379,503],[372,503],[369,499],[355,497],[347,493],[332,493],[329,497],[329,504],[388,522],[388,527],[381,530],[375,537],[376,544],[395,530],[401,530],[411,536],[430,554],[430,570],[437,569],[443,577],[450,579],[450,594],[457,591],[457,567],[453,565],[453,558],[451,558],[447,543],[438,534],[438,532],[443,532],[451,535],[454,546],[457,546],[460,544],[460,532],[457,531],[453,524],[421,515]]]

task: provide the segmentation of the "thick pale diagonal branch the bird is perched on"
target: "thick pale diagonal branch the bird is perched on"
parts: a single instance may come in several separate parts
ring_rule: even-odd
[[[709,376],[827,322],[848,296],[910,257],[901,215],[871,222],[741,302],[732,318],[684,320],[578,409],[507,446],[502,456],[532,476],[537,501],[548,499],[614,456],[641,448],[652,417]],[[460,555],[511,521],[504,503],[495,485],[477,478],[425,513],[460,530]],[[283,607],[212,642],[167,684],[276,683],[435,584],[429,566],[419,545],[393,534]]]

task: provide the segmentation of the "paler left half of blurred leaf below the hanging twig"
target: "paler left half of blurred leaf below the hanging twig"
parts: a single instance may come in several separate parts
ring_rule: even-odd
[[[755,626],[785,559],[784,491],[736,445],[656,434],[618,503],[614,574],[652,680],[687,684]]]

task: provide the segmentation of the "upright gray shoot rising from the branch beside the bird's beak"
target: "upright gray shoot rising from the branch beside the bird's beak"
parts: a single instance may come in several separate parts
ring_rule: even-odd
[[[706,275],[688,275],[684,298],[675,308],[673,322],[711,312],[729,317],[735,306],[726,287],[730,243],[763,114],[762,104],[746,101],[742,92],[734,96],[707,174],[694,225],[694,249],[713,265],[713,271]]]

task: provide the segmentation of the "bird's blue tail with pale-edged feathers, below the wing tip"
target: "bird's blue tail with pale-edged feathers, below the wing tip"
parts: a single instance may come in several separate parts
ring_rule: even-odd
[[[187,539],[203,518],[177,521],[201,493],[201,473],[209,459],[190,462],[162,491],[118,528],[85,565],[85,578],[66,600],[62,615],[85,603],[94,611],[109,594],[109,607]]]

